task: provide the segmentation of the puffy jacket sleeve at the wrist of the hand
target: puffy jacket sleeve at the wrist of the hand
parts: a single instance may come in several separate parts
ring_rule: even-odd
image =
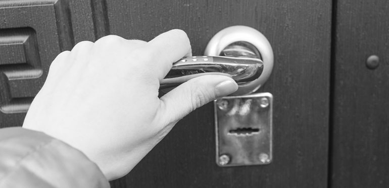
[[[0,187],[110,187],[82,152],[44,133],[0,129]]]

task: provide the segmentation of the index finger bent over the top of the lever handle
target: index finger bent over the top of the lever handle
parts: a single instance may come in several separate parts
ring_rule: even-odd
[[[186,33],[179,29],[162,33],[147,44],[151,60],[158,78],[163,79],[172,67],[173,62],[183,56],[191,56],[190,42]]]

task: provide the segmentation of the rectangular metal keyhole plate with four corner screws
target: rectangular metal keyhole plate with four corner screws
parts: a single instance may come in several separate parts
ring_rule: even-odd
[[[217,165],[269,164],[273,95],[228,96],[215,100],[214,104]]]

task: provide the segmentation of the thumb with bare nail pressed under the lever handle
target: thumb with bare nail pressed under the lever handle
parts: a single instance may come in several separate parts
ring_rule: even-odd
[[[185,115],[215,100],[235,92],[238,85],[232,78],[206,75],[188,80],[161,97],[163,116],[176,122]]]

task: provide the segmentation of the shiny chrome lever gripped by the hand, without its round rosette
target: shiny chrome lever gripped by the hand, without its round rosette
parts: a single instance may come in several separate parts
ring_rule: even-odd
[[[160,88],[175,87],[194,77],[203,75],[226,75],[242,84],[258,79],[263,71],[263,62],[259,58],[193,56],[175,62],[160,81]]]

